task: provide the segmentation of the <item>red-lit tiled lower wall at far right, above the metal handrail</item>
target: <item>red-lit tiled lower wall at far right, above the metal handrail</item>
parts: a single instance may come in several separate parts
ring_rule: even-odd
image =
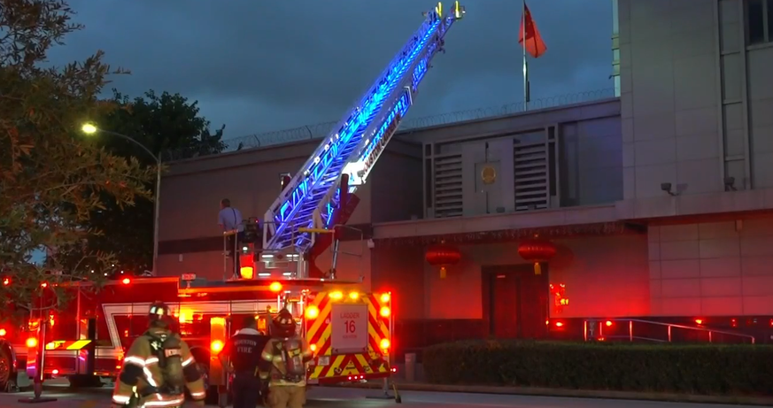
[[[773,218],[649,228],[652,312],[773,313]]]

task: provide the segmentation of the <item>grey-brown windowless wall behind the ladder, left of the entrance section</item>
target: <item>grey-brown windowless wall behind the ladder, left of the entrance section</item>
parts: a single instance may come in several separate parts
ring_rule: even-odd
[[[222,278],[222,239],[218,238],[221,231],[217,225],[220,200],[229,198],[244,218],[263,219],[280,193],[280,174],[297,172],[318,142],[242,150],[168,165],[161,181],[159,274],[197,273]],[[420,154],[421,146],[416,143],[390,142],[370,182],[357,192],[360,203],[349,225],[411,219],[420,214]],[[343,251],[360,255],[342,257],[341,273],[354,276],[362,270],[359,264],[369,267],[369,258],[361,260],[368,256],[361,250],[363,245],[364,241],[344,243]],[[329,265],[329,257],[321,258],[320,263]]]

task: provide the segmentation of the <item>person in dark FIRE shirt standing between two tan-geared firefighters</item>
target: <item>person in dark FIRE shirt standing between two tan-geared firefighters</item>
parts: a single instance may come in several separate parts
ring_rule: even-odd
[[[234,408],[255,408],[263,387],[258,368],[260,353],[268,343],[268,336],[258,331],[254,317],[244,318],[243,328],[236,332],[220,352],[220,362],[234,374]],[[230,359],[230,364],[228,362]]]

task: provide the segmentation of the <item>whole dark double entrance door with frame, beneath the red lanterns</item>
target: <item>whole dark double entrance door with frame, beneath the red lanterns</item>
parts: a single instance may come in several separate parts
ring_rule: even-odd
[[[496,266],[483,271],[483,309],[489,333],[501,339],[544,338],[548,307],[547,273],[532,266]]]

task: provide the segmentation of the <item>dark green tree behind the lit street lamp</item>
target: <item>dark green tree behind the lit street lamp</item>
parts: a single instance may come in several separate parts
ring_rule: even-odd
[[[197,155],[219,153],[225,147],[223,129],[210,133],[210,122],[199,115],[197,101],[180,94],[152,90],[144,97],[129,98],[113,89],[112,104],[118,106],[98,119],[97,126],[111,132],[128,135],[151,150],[158,158],[169,150],[193,150]],[[156,159],[147,151],[118,137],[99,135],[99,142],[114,154],[136,157],[143,164],[155,166]],[[155,194],[155,184],[148,184]],[[153,203],[138,199],[131,208],[121,208],[120,203],[105,196],[104,209],[95,211],[89,218],[88,227],[104,231],[104,235],[89,240],[89,250],[116,253],[117,266],[126,273],[151,270],[153,255]]]

